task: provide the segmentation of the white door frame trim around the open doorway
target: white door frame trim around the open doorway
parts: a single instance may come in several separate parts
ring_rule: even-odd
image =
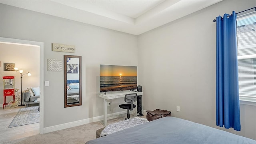
[[[29,41],[29,40],[19,40],[14,38],[3,38],[0,37],[0,42],[10,42],[16,44],[29,44],[39,46],[40,48],[40,134],[43,134],[44,128],[44,43]]]

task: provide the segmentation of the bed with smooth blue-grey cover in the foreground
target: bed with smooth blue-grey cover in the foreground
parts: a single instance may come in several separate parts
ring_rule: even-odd
[[[168,116],[90,140],[86,144],[256,144],[256,141]]]

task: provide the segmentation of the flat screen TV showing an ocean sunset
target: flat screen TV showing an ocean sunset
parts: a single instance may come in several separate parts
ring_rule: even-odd
[[[137,66],[100,65],[100,92],[137,89]]]

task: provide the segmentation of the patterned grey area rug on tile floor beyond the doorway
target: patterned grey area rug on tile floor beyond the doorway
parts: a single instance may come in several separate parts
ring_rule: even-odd
[[[20,110],[18,111],[18,113],[16,114],[8,128],[38,123],[39,120],[40,113],[38,111],[38,106],[20,108]]]

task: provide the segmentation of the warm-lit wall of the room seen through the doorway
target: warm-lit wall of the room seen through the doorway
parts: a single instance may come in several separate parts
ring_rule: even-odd
[[[21,92],[20,73],[4,71],[4,63],[14,63],[18,70],[23,70],[23,74],[32,74],[23,76],[22,91],[27,90],[27,87],[39,86],[39,47],[0,43],[0,61],[0,104],[4,102],[2,76],[15,76],[15,88],[19,89],[18,94]],[[6,101],[9,100],[12,100],[11,96],[6,97]]]

